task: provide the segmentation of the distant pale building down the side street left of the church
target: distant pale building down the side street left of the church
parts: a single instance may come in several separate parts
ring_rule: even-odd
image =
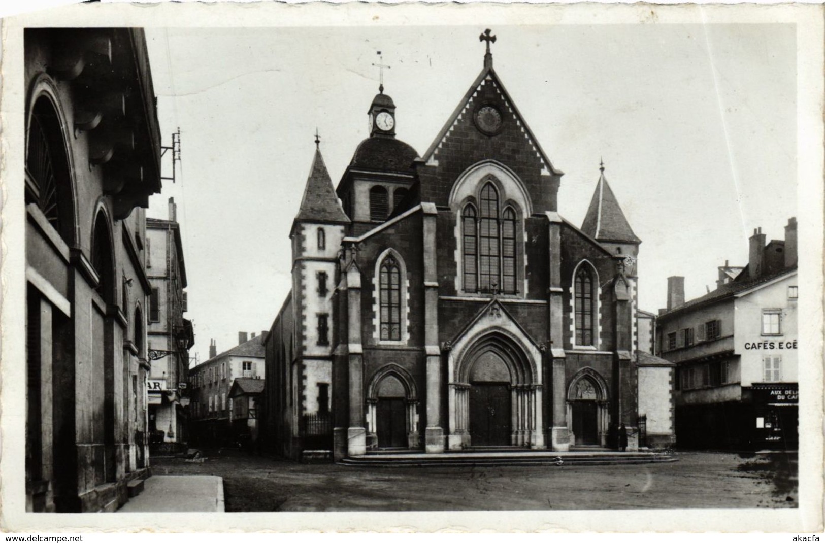
[[[191,442],[196,446],[224,446],[254,437],[257,439],[257,399],[266,378],[264,339],[266,332],[252,338],[238,333],[238,345],[218,354],[214,340],[210,342],[209,360],[189,371],[191,403],[189,406]],[[236,380],[242,385],[234,387]],[[257,381],[250,385],[247,380]],[[260,389],[260,390],[259,390]],[[233,391],[242,396],[238,418]],[[251,410],[251,412],[250,412]],[[254,430],[253,430],[254,429]]]

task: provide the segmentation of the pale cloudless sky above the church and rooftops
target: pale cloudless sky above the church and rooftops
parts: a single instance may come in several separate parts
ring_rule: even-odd
[[[796,215],[794,26],[491,26],[496,72],[555,168],[559,213],[580,225],[606,177],[635,234],[639,307],[686,297],[747,263],[761,227]],[[163,143],[181,129],[175,184],[148,216],[177,219],[192,355],[270,328],[290,289],[290,239],[316,128],[333,182],[368,136],[378,92],[398,139],[423,153],[483,67],[484,26],[147,28]],[[163,163],[171,175],[171,163]]]

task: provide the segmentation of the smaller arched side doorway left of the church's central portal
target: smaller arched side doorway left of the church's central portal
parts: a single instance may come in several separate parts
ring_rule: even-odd
[[[415,380],[396,364],[384,366],[367,388],[367,444],[380,448],[421,446]]]

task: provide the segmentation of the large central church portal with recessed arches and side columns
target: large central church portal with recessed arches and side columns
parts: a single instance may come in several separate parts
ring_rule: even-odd
[[[509,333],[487,333],[464,349],[454,379],[450,448],[544,446],[540,376]]]

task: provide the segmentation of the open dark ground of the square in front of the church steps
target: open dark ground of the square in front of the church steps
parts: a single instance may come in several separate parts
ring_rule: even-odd
[[[795,453],[676,452],[669,464],[363,468],[234,450],[153,459],[156,475],[219,475],[227,512],[795,508]]]

